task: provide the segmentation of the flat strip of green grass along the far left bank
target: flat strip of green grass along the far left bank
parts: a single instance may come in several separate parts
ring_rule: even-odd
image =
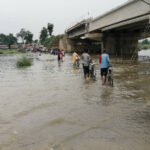
[[[0,54],[19,54],[19,53],[26,53],[26,50],[17,50],[17,49],[0,49]]]

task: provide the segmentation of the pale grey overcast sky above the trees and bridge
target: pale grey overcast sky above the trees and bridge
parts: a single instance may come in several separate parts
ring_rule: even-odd
[[[0,0],[0,33],[16,35],[30,30],[34,39],[47,23],[54,34],[62,34],[71,24],[88,16],[97,17],[128,0]]]

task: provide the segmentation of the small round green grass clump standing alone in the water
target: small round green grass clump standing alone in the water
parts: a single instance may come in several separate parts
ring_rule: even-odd
[[[22,68],[22,67],[28,67],[32,65],[32,62],[29,58],[23,56],[22,58],[20,58],[17,63],[16,63],[17,67]]]

